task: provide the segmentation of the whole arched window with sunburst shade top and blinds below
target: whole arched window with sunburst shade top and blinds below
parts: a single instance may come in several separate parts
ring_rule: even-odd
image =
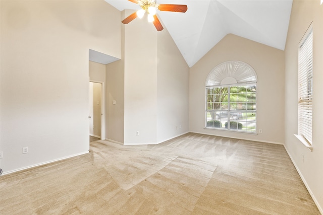
[[[245,62],[213,68],[205,81],[205,127],[255,133],[256,83],[254,69]]]

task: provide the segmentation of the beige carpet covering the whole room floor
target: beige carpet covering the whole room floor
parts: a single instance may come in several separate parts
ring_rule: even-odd
[[[320,214],[281,145],[188,133],[0,177],[1,214]]]

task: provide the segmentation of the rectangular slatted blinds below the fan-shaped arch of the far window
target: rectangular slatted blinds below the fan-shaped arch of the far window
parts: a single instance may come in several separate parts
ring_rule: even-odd
[[[206,128],[256,132],[256,85],[206,88]]]

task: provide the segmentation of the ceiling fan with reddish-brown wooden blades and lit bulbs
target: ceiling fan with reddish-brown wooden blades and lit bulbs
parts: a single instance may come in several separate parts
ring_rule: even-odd
[[[187,5],[169,5],[169,4],[156,4],[156,0],[128,0],[132,3],[138,4],[141,9],[137,12],[131,14],[126,19],[121,21],[123,24],[128,24],[135,18],[139,17],[140,19],[147,12],[148,22],[152,22],[157,31],[163,30],[158,17],[156,16],[156,9],[159,11],[171,11],[171,12],[181,12],[185,13],[187,11]]]

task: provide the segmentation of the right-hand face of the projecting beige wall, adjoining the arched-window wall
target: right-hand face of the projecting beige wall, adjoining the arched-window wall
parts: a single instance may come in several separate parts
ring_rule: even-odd
[[[157,37],[157,142],[189,130],[189,67],[171,35]]]

